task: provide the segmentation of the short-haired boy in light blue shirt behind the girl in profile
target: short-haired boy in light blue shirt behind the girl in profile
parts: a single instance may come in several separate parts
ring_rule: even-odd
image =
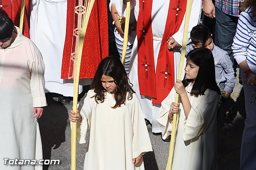
[[[228,53],[214,45],[210,30],[204,25],[196,25],[190,32],[192,44],[187,45],[186,53],[195,48],[208,48],[212,51],[215,63],[216,83],[226,96],[230,96],[236,84],[233,63]]]

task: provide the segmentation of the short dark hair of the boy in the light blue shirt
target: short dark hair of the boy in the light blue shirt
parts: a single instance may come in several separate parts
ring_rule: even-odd
[[[211,37],[211,31],[204,25],[196,25],[190,32],[190,38],[194,45],[205,43]]]

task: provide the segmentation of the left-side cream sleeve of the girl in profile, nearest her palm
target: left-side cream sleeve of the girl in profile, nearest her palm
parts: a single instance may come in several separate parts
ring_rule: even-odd
[[[172,88],[168,96],[162,101],[158,116],[156,117],[162,130],[163,139],[166,139],[172,133],[172,122],[168,120],[168,115],[171,103],[175,102],[175,95],[176,91]]]

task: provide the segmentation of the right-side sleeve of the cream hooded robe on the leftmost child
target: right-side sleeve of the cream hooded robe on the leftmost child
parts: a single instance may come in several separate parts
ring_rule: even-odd
[[[25,39],[25,42],[28,40]],[[30,41],[30,40],[29,40]],[[30,68],[30,88],[33,98],[33,107],[47,106],[44,93],[44,61],[40,51],[32,44],[30,45],[31,56],[28,66]],[[29,54],[28,54],[29,55]]]

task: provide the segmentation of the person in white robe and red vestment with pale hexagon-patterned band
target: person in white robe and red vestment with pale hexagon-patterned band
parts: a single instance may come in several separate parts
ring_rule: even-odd
[[[68,104],[73,96],[73,61],[78,49],[82,0],[31,0],[30,37],[42,53],[45,64],[45,91],[60,94]],[[108,56],[108,17],[106,1],[94,2],[82,52],[80,85],[90,84],[103,57]],[[63,95],[63,96],[62,96]]]

